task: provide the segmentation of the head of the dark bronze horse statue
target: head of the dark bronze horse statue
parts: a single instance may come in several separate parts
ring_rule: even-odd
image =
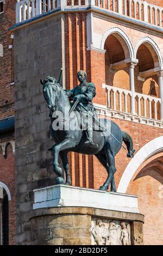
[[[43,85],[43,96],[45,97],[48,108],[54,112],[58,96],[58,82],[52,76],[47,76],[45,80],[40,80],[40,82]]]

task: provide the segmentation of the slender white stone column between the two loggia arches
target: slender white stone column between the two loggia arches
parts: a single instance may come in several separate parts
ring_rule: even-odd
[[[134,78],[135,66],[136,66],[136,63],[131,62],[129,64],[130,90],[131,90],[131,114],[135,114],[135,78]]]

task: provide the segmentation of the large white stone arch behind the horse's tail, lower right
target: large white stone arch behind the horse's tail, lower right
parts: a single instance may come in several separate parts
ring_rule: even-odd
[[[129,183],[139,166],[145,162],[149,157],[163,150],[163,136],[152,139],[145,144],[137,153],[134,158],[128,163],[124,170],[117,192],[126,193]]]

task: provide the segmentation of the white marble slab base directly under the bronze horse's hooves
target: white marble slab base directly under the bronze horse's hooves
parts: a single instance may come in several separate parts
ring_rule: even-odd
[[[80,206],[139,213],[137,199],[130,194],[55,185],[34,190],[33,209]]]

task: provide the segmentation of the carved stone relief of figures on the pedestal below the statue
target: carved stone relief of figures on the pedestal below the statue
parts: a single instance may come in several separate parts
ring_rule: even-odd
[[[92,245],[131,245],[128,221],[92,219]]]

